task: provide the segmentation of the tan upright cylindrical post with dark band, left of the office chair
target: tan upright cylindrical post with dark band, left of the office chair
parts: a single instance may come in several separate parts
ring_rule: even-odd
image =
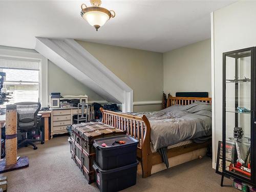
[[[17,163],[17,106],[6,105],[6,165]]]

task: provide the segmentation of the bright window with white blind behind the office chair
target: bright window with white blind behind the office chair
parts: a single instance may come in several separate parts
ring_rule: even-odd
[[[10,102],[40,101],[40,61],[0,57],[0,71],[6,73],[3,92],[13,92]]]

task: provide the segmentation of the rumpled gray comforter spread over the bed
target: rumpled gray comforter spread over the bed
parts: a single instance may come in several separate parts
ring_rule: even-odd
[[[211,135],[211,104],[195,102],[173,105],[157,112],[130,113],[145,115],[151,124],[151,142],[157,151],[181,141],[204,140]]]

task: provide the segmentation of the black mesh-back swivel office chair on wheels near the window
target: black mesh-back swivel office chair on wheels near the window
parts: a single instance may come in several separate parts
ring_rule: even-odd
[[[29,139],[29,135],[32,130],[40,129],[40,118],[41,114],[38,111],[41,108],[39,102],[18,102],[17,105],[17,130],[21,133],[25,133],[25,139],[18,143],[18,148],[21,146],[32,145],[34,150],[37,146],[33,143],[34,141],[41,141],[44,144],[45,141],[42,139]]]

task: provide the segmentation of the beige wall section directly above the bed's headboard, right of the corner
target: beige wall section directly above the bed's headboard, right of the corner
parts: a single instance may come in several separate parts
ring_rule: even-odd
[[[163,90],[209,92],[211,95],[210,39],[163,54]]]

